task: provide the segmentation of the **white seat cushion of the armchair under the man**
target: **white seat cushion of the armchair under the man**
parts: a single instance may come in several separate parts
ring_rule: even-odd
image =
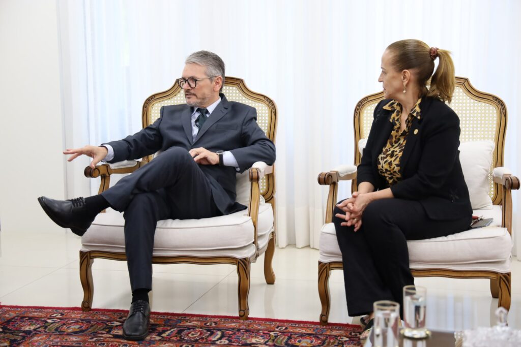
[[[273,222],[271,204],[261,204],[257,228],[259,248],[267,243]],[[81,238],[82,251],[125,252],[123,225],[123,215],[117,211],[107,209],[106,213],[98,214]],[[250,254],[254,251],[253,238],[253,223],[247,210],[200,220],[164,220],[157,222],[154,255],[209,255],[208,251]]]

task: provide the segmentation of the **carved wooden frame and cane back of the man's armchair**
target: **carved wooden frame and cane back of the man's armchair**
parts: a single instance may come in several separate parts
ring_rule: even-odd
[[[266,136],[275,143],[275,136],[277,130],[277,106],[275,102],[269,97],[250,91],[246,87],[242,79],[226,77],[224,93],[226,95],[227,89],[238,91],[240,98],[244,98],[244,101],[253,102],[263,106],[263,112],[257,112],[257,123],[263,128]],[[184,100],[182,97],[183,91],[177,84],[172,85],[167,91],[156,93],[148,97],[143,104],[142,111],[142,124],[146,127],[155,121],[155,118],[159,117],[158,110],[160,106],[181,104],[184,101],[172,101],[176,97]],[[230,99],[228,96],[227,98]],[[258,110],[257,110],[258,111]],[[155,118],[154,118],[154,115]],[[262,124],[261,124],[262,122]],[[97,165],[94,169],[90,166],[86,167],[84,174],[90,178],[101,178],[100,189],[98,194],[109,188],[110,175],[112,174],[128,174],[141,166],[145,165],[152,160],[153,156],[147,156],[142,158],[132,167],[116,168],[113,169],[109,164]],[[274,166],[267,166],[266,168],[252,167],[249,170],[251,191],[250,191],[250,203],[247,210],[247,215],[251,217],[254,226],[254,245],[255,254],[252,258],[233,258],[232,256],[153,256],[153,264],[232,264],[237,266],[237,274],[239,277],[238,284],[238,300],[239,300],[239,317],[241,319],[247,319],[249,315],[248,306],[248,293],[250,290],[250,264],[255,262],[262,253],[265,251],[264,257],[264,276],[268,284],[275,283],[275,273],[273,272],[271,263],[275,252],[275,169]],[[258,211],[259,211],[259,200],[260,196],[264,197],[267,203],[272,205],[274,210],[274,230],[272,230],[268,236],[269,241],[264,249],[259,249],[257,243],[257,222],[258,222]],[[94,259],[102,258],[109,260],[121,260],[126,261],[127,257],[125,253],[107,252],[107,251],[80,251],[80,279],[83,287],[83,311],[90,311],[92,306],[92,299],[94,295],[94,284],[92,280],[92,263]]]

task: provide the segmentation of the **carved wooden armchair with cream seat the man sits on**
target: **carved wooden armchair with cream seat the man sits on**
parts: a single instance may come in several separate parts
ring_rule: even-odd
[[[230,101],[239,101],[257,110],[257,123],[266,136],[275,142],[277,107],[262,94],[250,91],[241,79],[226,77],[223,93]],[[154,94],[143,104],[143,127],[159,118],[162,106],[184,104],[184,91],[175,83],[165,92]],[[145,165],[153,156],[141,161],[125,161],[85,168],[85,176],[101,177],[99,192],[108,189],[110,176],[128,174]],[[275,251],[275,174],[274,168],[257,162],[249,171],[237,174],[237,201],[247,205],[247,211],[201,220],[166,220],[157,224],[154,264],[233,264],[239,276],[239,317],[249,315],[250,264],[265,253],[264,276],[268,284],[275,283],[271,261]],[[94,284],[91,266],[95,258],[126,260],[121,213],[108,209],[99,214],[81,239],[80,279],[83,287],[83,311],[92,305]],[[219,233],[215,237],[205,234]],[[210,240],[210,241],[209,241]],[[210,243],[211,242],[211,243]]]

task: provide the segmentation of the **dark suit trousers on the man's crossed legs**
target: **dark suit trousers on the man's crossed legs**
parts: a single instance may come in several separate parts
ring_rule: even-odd
[[[157,221],[221,215],[208,179],[187,150],[172,147],[102,193],[125,217],[125,251],[132,291],[152,289]]]

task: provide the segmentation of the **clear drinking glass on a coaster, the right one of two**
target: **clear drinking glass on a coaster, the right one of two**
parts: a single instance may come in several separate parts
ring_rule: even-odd
[[[428,336],[425,328],[427,288],[420,286],[403,287],[403,336],[424,339]]]

